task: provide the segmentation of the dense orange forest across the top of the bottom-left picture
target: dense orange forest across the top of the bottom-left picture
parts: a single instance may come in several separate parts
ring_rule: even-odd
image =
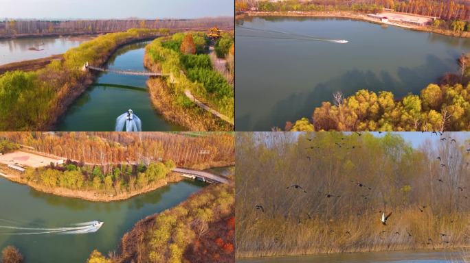
[[[234,164],[234,135],[230,133],[0,132],[0,139],[65,160],[98,164],[103,173],[113,171],[115,164],[148,165],[162,160],[196,169]]]

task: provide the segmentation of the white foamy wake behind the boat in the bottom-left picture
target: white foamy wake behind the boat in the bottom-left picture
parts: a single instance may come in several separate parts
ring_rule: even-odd
[[[100,221],[90,221],[73,224],[70,227],[41,228],[41,227],[14,227],[10,225],[0,225],[0,235],[39,235],[39,234],[87,234],[94,233],[102,227],[104,223]],[[10,230],[8,232],[1,231]],[[16,231],[15,231],[16,230]]]

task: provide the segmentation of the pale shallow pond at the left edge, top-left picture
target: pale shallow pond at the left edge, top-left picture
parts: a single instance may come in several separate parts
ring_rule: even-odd
[[[0,65],[62,54],[91,38],[91,36],[77,36],[0,40]],[[32,47],[38,49],[38,51],[29,50]]]

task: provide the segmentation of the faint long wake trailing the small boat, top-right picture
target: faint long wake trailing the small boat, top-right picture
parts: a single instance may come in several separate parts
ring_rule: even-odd
[[[243,29],[247,29],[250,32],[256,32],[256,35],[252,34],[237,34],[236,36],[241,36],[245,38],[260,38],[260,39],[284,39],[284,40],[311,40],[311,41],[324,41],[324,42],[333,42],[339,44],[346,44],[349,42],[348,40],[344,39],[326,39],[326,38],[316,38],[315,36],[309,36],[304,34],[295,34],[290,32],[282,32],[276,30],[269,30],[269,29],[258,29],[252,27],[243,27],[238,26]]]

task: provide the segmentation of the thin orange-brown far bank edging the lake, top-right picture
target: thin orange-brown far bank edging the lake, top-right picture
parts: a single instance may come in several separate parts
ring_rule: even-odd
[[[293,16],[293,17],[324,17],[324,18],[349,18],[359,21],[366,21],[374,24],[379,25],[393,25],[396,27],[402,27],[405,29],[416,30],[421,32],[432,32],[436,34],[442,34],[445,36],[454,36],[459,38],[470,38],[470,32],[454,32],[451,30],[446,29],[439,29],[436,27],[425,26],[421,27],[418,25],[408,25],[408,24],[400,24],[400,23],[383,23],[378,19],[371,18],[367,16],[366,13],[359,13],[359,12],[351,12],[351,11],[332,11],[332,12],[254,12],[248,11],[244,12],[243,14],[238,14],[236,19],[243,19],[249,16]]]

